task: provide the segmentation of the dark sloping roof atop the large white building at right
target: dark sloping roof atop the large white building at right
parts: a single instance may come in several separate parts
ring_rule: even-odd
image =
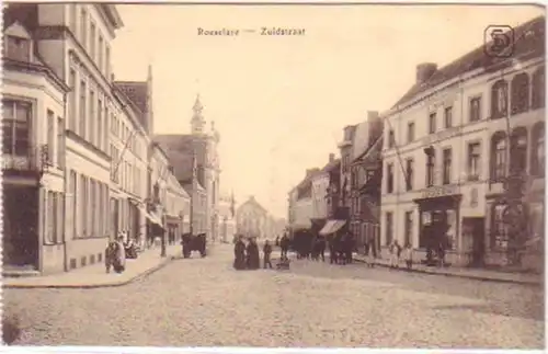
[[[533,31],[533,33],[530,33]],[[533,35],[529,35],[533,34]],[[528,57],[545,55],[545,16],[535,18],[514,28],[514,52],[512,57]],[[488,56],[484,52],[484,46],[480,46],[472,52],[467,53],[460,58],[436,70],[432,77],[423,83],[415,83],[401,99],[396,102],[392,109],[400,104],[411,101],[421,93],[439,85],[450,79],[457,78],[464,73],[476,69],[489,70],[493,65],[501,64],[496,70],[503,67],[511,66],[512,62],[507,58],[498,58]]]

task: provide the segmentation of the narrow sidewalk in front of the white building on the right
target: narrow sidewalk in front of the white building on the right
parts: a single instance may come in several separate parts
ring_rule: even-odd
[[[363,254],[354,254],[354,261],[365,263],[365,255]],[[390,266],[389,260],[386,259],[376,259],[376,265],[379,266]],[[401,263],[400,267],[403,269],[404,264]],[[403,272],[403,270],[401,270]],[[445,276],[455,276],[463,277],[476,281],[483,282],[499,282],[499,283],[516,283],[516,284],[528,284],[528,285],[543,285],[544,276],[541,274],[530,274],[530,273],[506,273],[506,272],[498,272],[491,270],[481,270],[481,269],[466,269],[466,267],[435,267],[435,266],[426,266],[424,264],[413,263],[413,269],[411,272],[414,273],[425,273],[433,275],[445,275]]]

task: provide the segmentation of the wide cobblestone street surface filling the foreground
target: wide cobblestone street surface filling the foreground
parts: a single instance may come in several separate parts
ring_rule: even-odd
[[[540,349],[540,287],[294,261],[236,272],[231,247],[127,286],[5,289],[15,344]]]

